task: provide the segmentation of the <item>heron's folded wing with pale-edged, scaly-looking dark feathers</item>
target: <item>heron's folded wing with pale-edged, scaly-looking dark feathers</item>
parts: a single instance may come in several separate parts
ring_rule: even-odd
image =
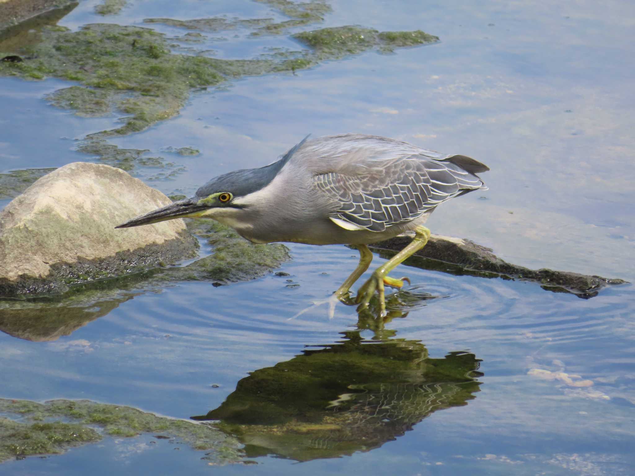
[[[320,192],[336,202],[331,220],[343,228],[373,232],[415,220],[440,203],[483,186],[453,157],[432,159],[427,154],[375,160],[371,167],[349,162],[340,171],[319,174],[313,180]]]

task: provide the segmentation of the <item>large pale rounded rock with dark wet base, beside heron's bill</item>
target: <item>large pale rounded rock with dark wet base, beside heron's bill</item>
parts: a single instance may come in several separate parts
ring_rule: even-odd
[[[74,162],[43,176],[0,212],[0,296],[63,293],[194,256],[197,241],[183,220],[114,229],[167,204],[106,165]]]

